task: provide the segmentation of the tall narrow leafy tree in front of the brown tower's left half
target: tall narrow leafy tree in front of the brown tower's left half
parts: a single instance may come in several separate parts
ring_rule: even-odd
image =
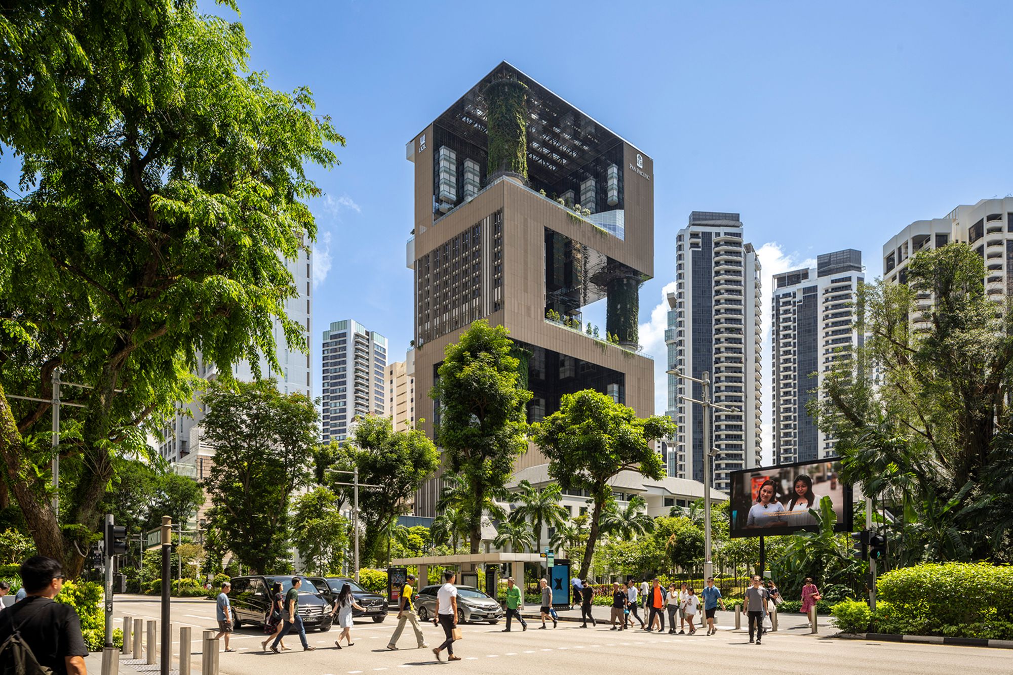
[[[437,442],[448,468],[460,474],[467,493],[458,509],[467,522],[471,553],[482,539],[483,511],[490,491],[502,491],[514,460],[527,450],[527,403],[521,387],[521,359],[502,326],[484,319],[471,324],[456,344],[447,345],[430,396],[440,406]],[[523,379],[522,379],[523,377]]]

